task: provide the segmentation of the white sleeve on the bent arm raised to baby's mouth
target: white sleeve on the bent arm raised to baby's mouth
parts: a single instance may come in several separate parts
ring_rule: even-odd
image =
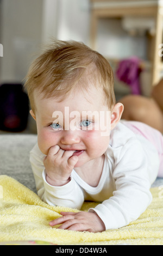
[[[44,202],[49,205],[68,208],[80,209],[82,207],[84,202],[83,191],[73,178],[64,186],[51,186],[46,181],[46,170],[41,157],[31,151],[30,163],[36,182],[37,194]]]

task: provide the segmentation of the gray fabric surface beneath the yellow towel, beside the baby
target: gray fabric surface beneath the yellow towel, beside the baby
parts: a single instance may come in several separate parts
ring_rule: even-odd
[[[34,192],[36,188],[29,162],[29,151],[36,141],[36,135],[0,135],[0,175],[11,176]],[[163,179],[156,179],[152,186],[160,185],[163,185]]]

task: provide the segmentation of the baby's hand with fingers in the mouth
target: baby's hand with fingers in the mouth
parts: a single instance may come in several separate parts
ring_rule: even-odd
[[[46,169],[46,180],[52,186],[63,186],[70,181],[70,175],[78,161],[78,156],[73,156],[74,151],[65,151],[55,145],[49,149],[48,155],[43,160]]]

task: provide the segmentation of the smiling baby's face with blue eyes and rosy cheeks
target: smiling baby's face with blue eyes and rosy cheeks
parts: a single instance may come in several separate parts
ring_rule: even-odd
[[[54,145],[74,150],[78,156],[75,167],[104,154],[110,139],[110,111],[102,90],[92,87],[89,92],[72,92],[61,102],[55,97],[41,99],[36,93],[34,99],[37,139],[43,154]]]

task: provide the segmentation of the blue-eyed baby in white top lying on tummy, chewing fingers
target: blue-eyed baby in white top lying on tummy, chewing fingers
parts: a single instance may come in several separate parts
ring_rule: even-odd
[[[56,41],[33,62],[24,87],[37,125],[30,162],[38,195],[76,209],[99,202],[49,224],[98,232],[136,220],[163,176],[163,139],[145,124],[120,121],[108,61],[80,42]]]

